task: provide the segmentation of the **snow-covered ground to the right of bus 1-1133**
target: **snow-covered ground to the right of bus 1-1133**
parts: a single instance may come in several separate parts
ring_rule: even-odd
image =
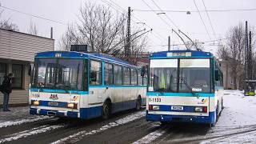
[[[202,143],[256,142],[256,96],[239,90],[225,90],[224,109]]]

